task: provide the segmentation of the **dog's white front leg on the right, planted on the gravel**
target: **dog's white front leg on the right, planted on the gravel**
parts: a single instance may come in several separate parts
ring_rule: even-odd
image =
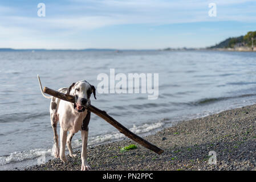
[[[88,140],[88,127],[86,130],[81,131],[82,135],[82,153],[81,153],[81,159],[82,159],[82,166],[81,171],[90,170],[91,167],[87,163],[87,140]]]

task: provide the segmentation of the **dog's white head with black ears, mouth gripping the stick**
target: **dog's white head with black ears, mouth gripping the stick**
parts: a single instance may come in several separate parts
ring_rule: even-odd
[[[79,113],[86,110],[84,106],[87,106],[90,104],[90,97],[91,94],[94,94],[95,97],[95,87],[94,85],[89,84],[86,80],[78,81],[76,83],[73,83],[67,91],[67,94],[70,94],[71,96],[75,96],[75,104],[74,109],[78,111]]]

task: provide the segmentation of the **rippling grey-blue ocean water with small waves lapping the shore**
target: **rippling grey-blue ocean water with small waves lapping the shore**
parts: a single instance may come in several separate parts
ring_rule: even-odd
[[[219,51],[15,51],[0,52],[0,169],[52,158],[53,131],[42,85],[67,87],[79,80],[97,86],[97,75],[159,73],[159,97],[99,94],[91,104],[141,136],[173,123],[204,117],[256,101],[256,53]],[[59,133],[59,128],[58,128]],[[91,115],[88,145],[124,138]],[[80,132],[72,140],[80,149]]]

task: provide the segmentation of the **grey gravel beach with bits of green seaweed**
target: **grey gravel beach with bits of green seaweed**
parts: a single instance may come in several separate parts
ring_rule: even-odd
[[[130,139],[88,148],[92,170],[255,170],[256,105],[182,121],[144,137],[164,150],[157,155]],[[135,150],[120,148],[136,144]],[[209,164],[209,151],[217,164]],[[80,151],[68,163],[60,159],[25,170],[80,170]]]

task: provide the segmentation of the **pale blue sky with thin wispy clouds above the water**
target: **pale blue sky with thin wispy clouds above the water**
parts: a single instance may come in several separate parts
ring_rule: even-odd
[[[256,31],[255,0],[0,0],[0,48],[198,48],[247,31]]]

